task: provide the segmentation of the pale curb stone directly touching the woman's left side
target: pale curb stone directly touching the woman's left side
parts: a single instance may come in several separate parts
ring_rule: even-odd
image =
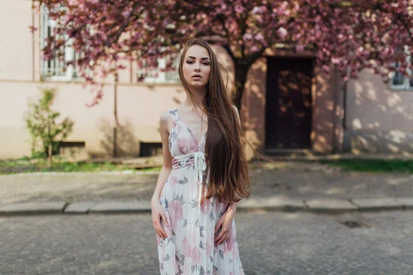
[[[97,203],[90,209],[91,213],[127,213],[151,212],[149,201],[109,201]]]

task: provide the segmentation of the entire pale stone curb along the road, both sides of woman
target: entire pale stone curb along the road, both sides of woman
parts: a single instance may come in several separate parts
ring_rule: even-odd
[[[242,199],[237,211],[314,212],[341,214],[344,212],[378,212],[413,210],[413,197],[380,199]],[[0,216],[31,216],[39,214],[142,214],[151,213],[150,201],[66,201],[10,203],[0,205]]]

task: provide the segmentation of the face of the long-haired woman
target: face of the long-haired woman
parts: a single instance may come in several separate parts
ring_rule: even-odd
[[[209,83],[211,75],[211,60],[204,47],[193,45],[189,47],[182,65],[184,79],[190,87],[204,87]]]

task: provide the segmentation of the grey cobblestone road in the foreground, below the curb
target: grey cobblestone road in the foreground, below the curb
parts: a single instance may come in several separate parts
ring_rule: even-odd
[[[237,213],[235,223],[247,275],[413,274],[411,212]],[[149,214],[1,218],[0,232],[2,275],[158,274]]]

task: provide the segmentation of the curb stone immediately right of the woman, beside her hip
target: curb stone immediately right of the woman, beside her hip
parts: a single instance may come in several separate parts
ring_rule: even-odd
[[[242,199],[237,203],[237,210],[283,210],[297,211],[306,210],[302,199],[293,199],[282,196],[263,199]]]

